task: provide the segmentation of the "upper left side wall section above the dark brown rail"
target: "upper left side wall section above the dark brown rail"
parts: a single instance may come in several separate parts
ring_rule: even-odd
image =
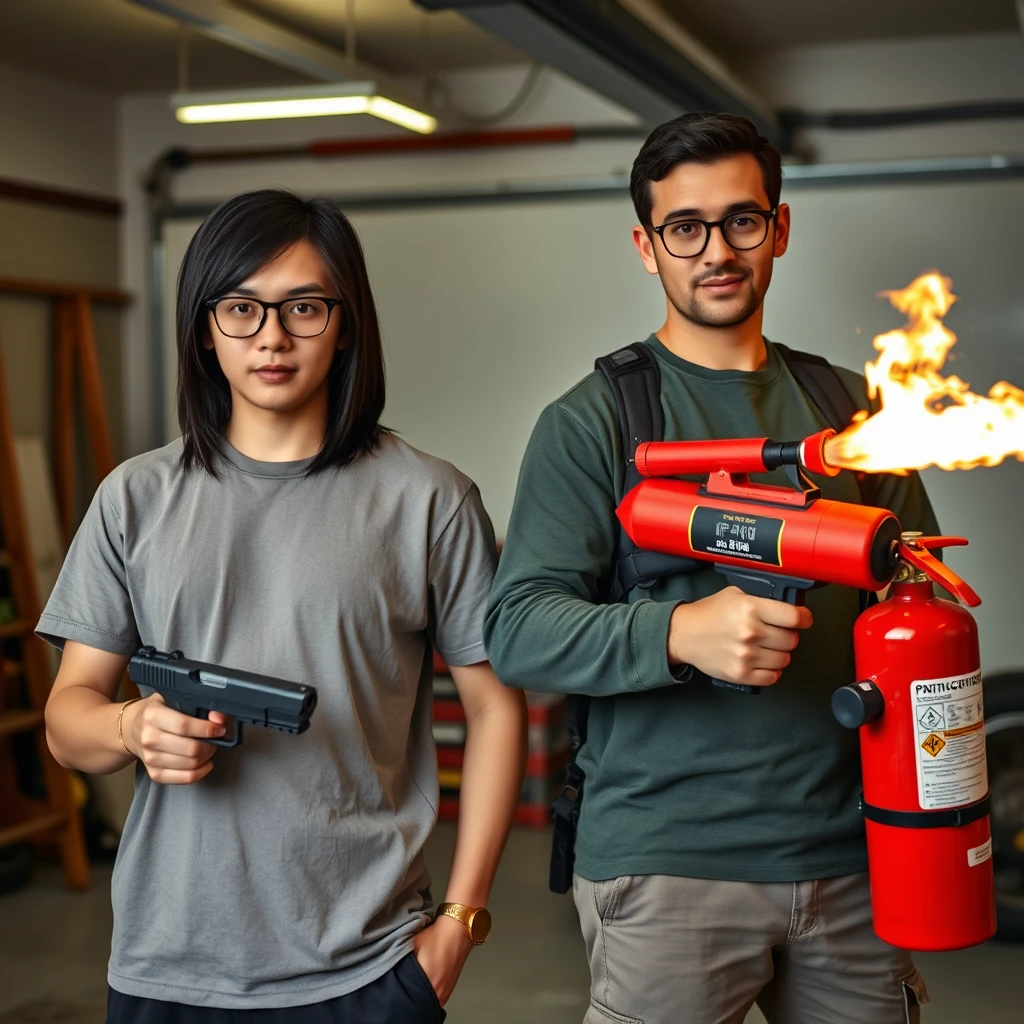
[[[0,177],[118,194],[114,96],[0,66]]]

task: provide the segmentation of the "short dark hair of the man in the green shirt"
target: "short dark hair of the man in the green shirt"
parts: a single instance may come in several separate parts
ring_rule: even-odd
[[[640,147],[630,175],[630,196],[640,223],[651,226],[652,181],[660,181],[679,164],[711,164],[743,153],[761,165],[768,205],[774,209],[782,191],[782,157],[750,118],[701,111],[658,125]]]

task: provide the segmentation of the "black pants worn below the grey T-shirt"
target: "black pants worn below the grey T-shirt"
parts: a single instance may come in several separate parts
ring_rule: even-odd
[[[430,980],[410,953],[383,978],[327,1002],[282,1010],[220,1010],[106,994],[106,1024],[441,1024]]]

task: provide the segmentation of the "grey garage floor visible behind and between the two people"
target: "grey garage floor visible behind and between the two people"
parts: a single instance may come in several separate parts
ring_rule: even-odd
[[[441,825],[428,850],[437,893],[453,837]],[[580,1024],[587,965],[570,898],[546,888],[548,843],[545,833],[513,833],[490,903],[495,934],[470,957],[449,1004],[452,1024]],[[109,880],[99,868],[91,892],[72,894],[43,866],[30,886],[0,896],[0,1024],[102,1024]],[[919,964],[932,995],[927,1024],[1024,1022],[1024,945],[992,942]],[[748,1024],[763,1020],[755,1010]]]

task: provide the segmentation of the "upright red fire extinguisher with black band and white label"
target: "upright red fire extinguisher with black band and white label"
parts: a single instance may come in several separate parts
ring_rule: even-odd
[[[995,934],[978,628],[932,581],[981,599],[904,534],[889,598],[854,627],[857,678],[833,711],[860,731],[874,931],[907,949],[959,949]]]

